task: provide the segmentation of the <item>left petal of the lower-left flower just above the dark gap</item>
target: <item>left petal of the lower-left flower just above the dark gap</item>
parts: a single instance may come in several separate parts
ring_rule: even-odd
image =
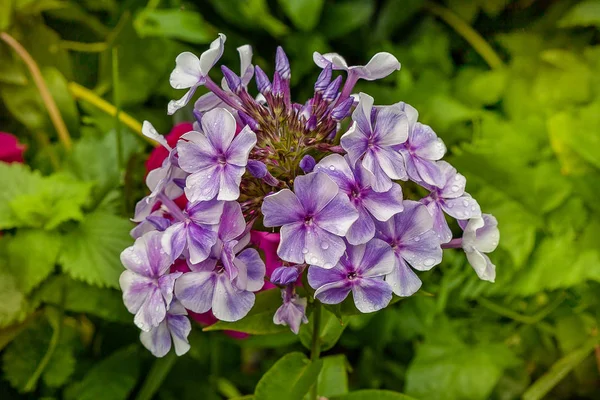
[[[212,307],[216,281],[212,271],[188,272],[175,282],[175,296],[188,310],[207,312]]]

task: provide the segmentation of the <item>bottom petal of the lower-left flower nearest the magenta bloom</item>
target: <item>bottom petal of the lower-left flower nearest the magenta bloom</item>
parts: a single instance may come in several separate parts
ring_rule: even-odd
[[[238,321],[248,314],[254,305],[254,293],[239,290],[231,284],[226,274],[218,274],[212,312],[221,321]]]

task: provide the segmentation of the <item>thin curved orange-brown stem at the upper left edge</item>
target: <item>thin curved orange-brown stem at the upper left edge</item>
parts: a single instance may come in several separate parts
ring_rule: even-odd
[[[46,106],[46,110],[50,115],[50,120],[52,121],[52,125],[54,125],[54,129],[56,129],[56,133],[58,134],[58,139],[61,141],[62,145],[67,151],[70,151],[73,147],[73,142],[71,141],[71,135],[69,135],[69,130],[67,129],[67,125],[58,110],[58,106],[44,81],[44,77],[42,72],[40,71],[40,67],[37,65],[33,57],[25,50],[25,48],[19,43],[14,37],[9,35],[6,32],[0,32],[0,39],[4,41],[7,45],[12,47],[12,49],[21,57],[29,73],[33,77],[33,82],[35,86],[37,86],[38,91],[40,92],[40,96],[42,97],[42,101]]]

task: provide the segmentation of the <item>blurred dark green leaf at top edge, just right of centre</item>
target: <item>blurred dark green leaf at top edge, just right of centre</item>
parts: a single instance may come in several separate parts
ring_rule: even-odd
[[[325,8],[321,18],[321,29],[330,39],[339,38],[367,24],[375,11],[372,0],[351,0],[333,3]]]

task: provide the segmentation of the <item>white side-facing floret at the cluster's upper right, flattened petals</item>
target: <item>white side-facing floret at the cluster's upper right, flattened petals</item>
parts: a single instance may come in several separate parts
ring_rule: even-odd
[[[392,72],[400,69],[398,59],[392,54],[385,52],[375,54],[365,66],[350,67],[344,57],[337,53],[320,54],[315,51],[313,53],[313,61],[321,68],[331,65],[333,69],[347,71],[349,74],[356,75],[357,78],[367,81],[385,78]]]

